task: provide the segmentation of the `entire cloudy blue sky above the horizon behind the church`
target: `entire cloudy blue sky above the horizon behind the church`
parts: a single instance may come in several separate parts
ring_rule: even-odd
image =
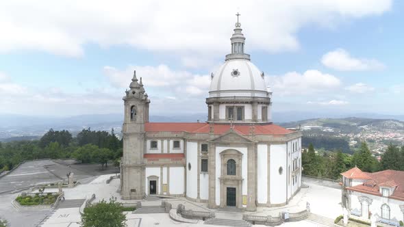
[[[404,114],[404,1],[1,1],[0,114],[203,113],[240,12],[274,111]]]

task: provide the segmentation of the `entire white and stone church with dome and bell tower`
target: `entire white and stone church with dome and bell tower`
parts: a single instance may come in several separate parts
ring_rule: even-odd
[[[231,53],[211,75],[207,121],[149,122],[142,78],[123,97],[121,196],[184,196],[208,207],[283,206],[301,188],[301,132],[271,119],[264,72],[244,53],[236,23]]]

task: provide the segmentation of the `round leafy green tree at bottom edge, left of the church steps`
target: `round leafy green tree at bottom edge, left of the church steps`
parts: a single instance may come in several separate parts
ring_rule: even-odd
[[[122,205],[113,199],[101,202],[84,209],[81,215],[82,227],[124,227],[126,216],[122,213]]]

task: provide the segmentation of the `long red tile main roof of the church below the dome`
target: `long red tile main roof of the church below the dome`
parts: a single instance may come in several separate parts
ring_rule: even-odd
[[[230,130],[230,124],[213,124],[214,134],[221,135]],[[147,122],[144,124],[147,132],[188,132],[188,133],[209,133],[208,123],[183,123],[183,122]],[[257,135],[285,135],[294,131],[284,129],[276,124],[256,124],[254,126]],[[249,124],[234,124],[234,131],[240,135],[249,135],[251,126]]]

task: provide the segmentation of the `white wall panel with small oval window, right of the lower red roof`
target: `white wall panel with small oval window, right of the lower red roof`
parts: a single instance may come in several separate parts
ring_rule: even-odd
[[[186,148],[186,196],[196,199],[198,196],[198,143],[186,142]],[[189,163],[191,169],[188,168]]]

